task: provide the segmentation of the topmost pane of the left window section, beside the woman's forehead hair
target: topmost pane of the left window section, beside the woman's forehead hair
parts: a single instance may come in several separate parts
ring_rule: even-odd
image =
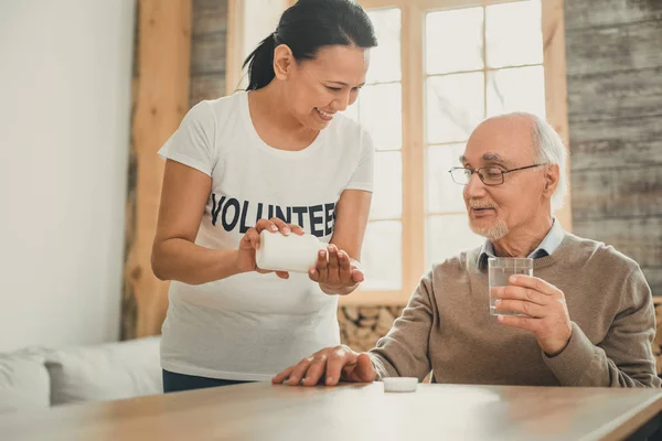
[[[367,13],[375,28],[378,46],[370,51],[367,83],[398,82],[401,73],[401,10],[385,9]]]

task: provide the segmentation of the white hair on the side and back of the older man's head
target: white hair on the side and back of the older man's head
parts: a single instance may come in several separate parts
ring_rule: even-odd
[[[537,115],[524,111],[513,112],[527,118],[532,122],[533,148],[535,149],[535,161],[537,163],[548,163],[558,165],[558,184],[552,195],[552,213],[563,206],[565,196],[568,192],[568,182],[566,176],[567,150],[560,136],[554,130],[549,122]]]

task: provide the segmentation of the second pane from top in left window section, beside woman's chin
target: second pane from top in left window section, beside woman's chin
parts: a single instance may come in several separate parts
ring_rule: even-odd
[[[359,94],[359,120],[377,150],[397,150],[403,143],[403,98],[399,83],[365,86]]]

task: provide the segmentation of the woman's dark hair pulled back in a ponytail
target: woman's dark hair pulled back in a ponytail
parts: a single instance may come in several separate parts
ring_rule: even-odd
[[[297,61],[312,60],[323,46],[377,45],[365,11],[352,0],[299,0],[280,17],[276,32],[263,40],[244,62],[248,90],[268,85],[276,76],[274,50],[287,44]]]

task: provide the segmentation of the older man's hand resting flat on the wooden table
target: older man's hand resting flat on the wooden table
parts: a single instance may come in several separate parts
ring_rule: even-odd
[[[271,379],[289,386],[314,386],[319,383],[335,386],[338,381],[371,383],[376,377],[375,368],[366,353],[356,353],[349,346],[325,347],[288,367]],[[301,381],[303,380],[303,381]]]

